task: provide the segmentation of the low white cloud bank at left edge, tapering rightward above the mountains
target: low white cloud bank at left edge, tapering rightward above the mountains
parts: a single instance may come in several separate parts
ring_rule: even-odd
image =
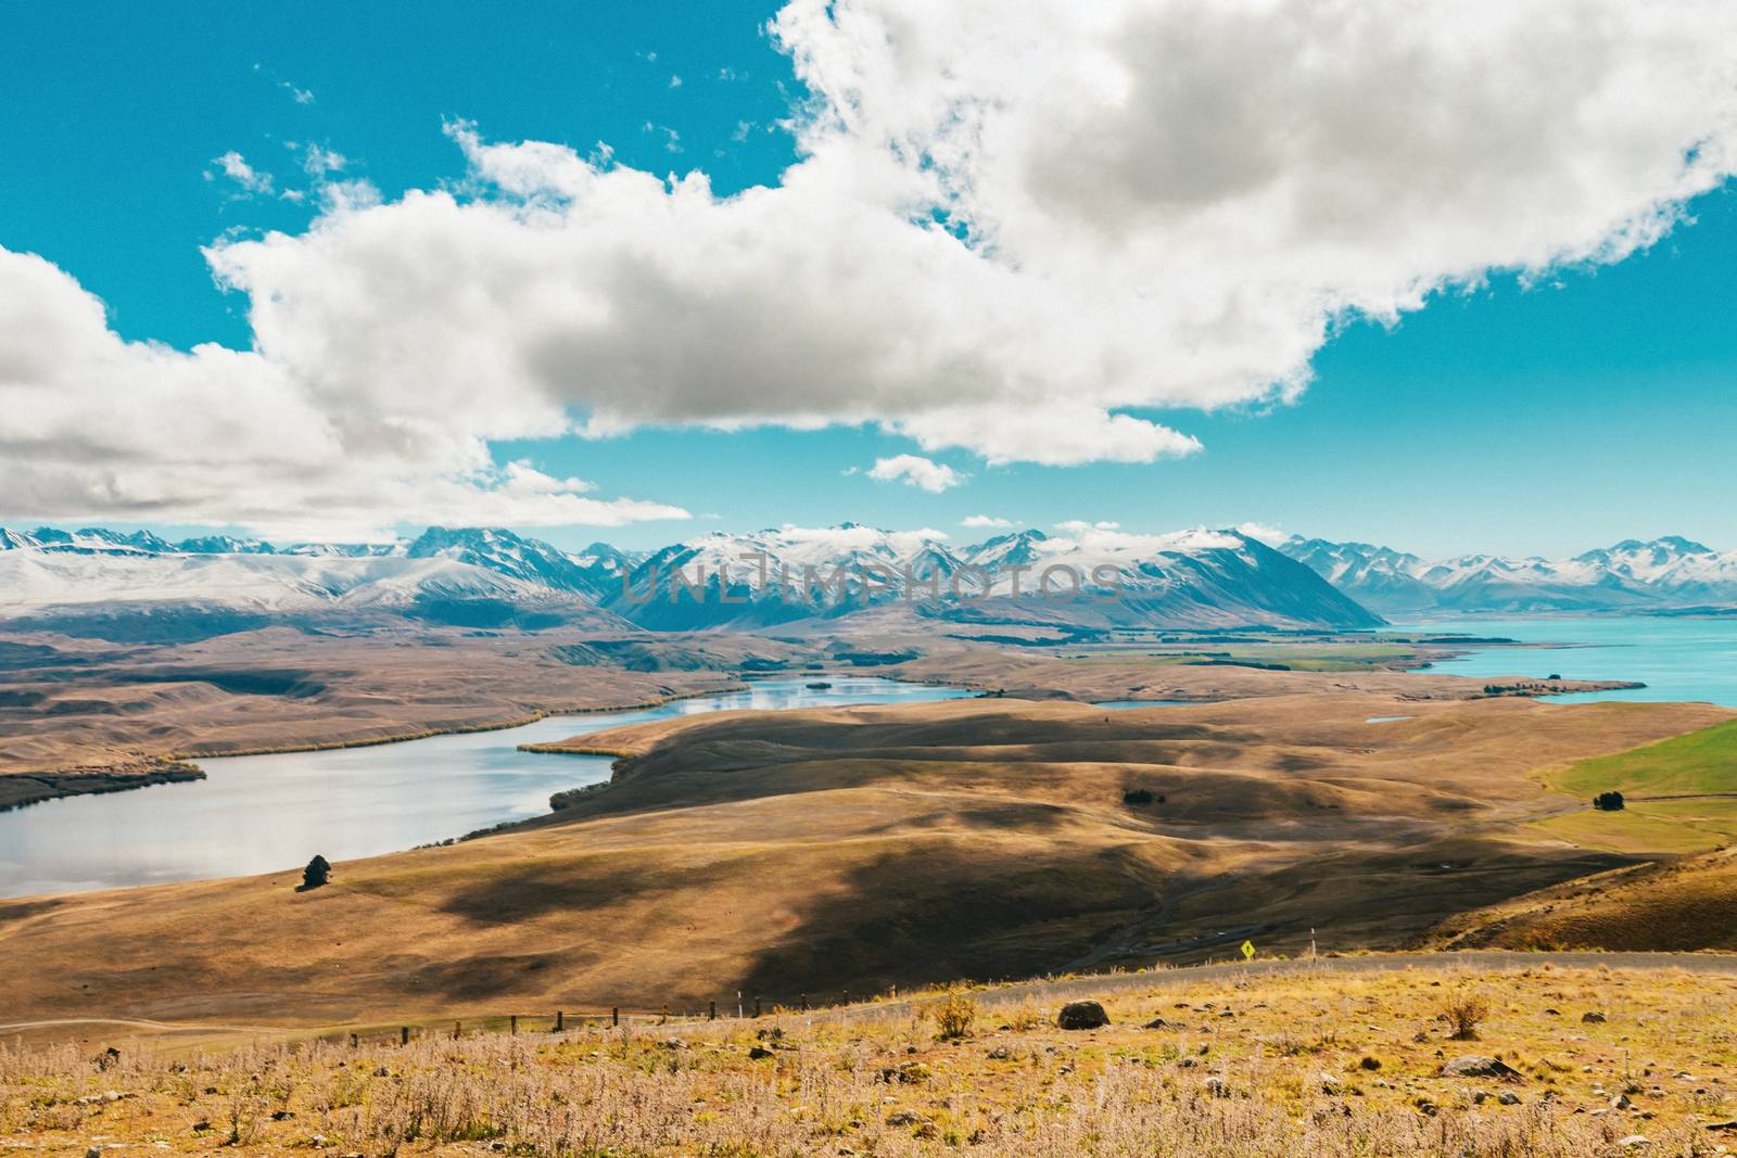
[[[346,417],[259,352],[125,342],[102,304],[0,248],[0,519],[236,524],[295,538],[393,523],[620,526],[686,512],[528,462],[464,420]]]

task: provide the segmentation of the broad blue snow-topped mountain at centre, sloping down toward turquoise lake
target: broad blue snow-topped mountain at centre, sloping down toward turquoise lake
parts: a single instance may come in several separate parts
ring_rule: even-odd
[[[860,524],[712,533],[641,563],[606,606],[643,627],[769,625],[872,606],[971,622],[1367,627],[1315,573],[1233,531],[1042,531],[950,549]]]

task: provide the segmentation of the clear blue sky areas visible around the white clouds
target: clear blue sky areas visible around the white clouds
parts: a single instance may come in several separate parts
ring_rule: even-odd
[[[386,200],[464,177],[443,132],[455,120],[580,155],[606,142],[632,168],[703,170],[719,194],[776,184],[797,156],[780,122],[804,89],[761,31],[775,7],[507,5],[478,21],[457,3],[113,3],[75,24],[57,5],[12,5],[0,245],[76,278],[129,340],[247,349],[247,299],[214,285],[200,247],[307,229],[314,205],[276,194],[307,186],[309,144],[346,156],[346,175]],[[273,196],[238,196],[215,172],[229,151],[271,175]],[[1294,403],[1133,411],[1199,438],[1185,458],[988,465],[839,425],[644,427],[493,450],[697,516],[523,528],[563,545],[846,519],[969,538],[961,519],[988,514],[1134,531],[1252,521],[1430,554],[1562,554],[1664,533],[1732,547],[1737,194],[1699,196],[1690,214],[1619,264],[1537,286],[1496,274],[1395,326],[1351,323]],[[969,477],[928,493],[865,476],[900,453]]]

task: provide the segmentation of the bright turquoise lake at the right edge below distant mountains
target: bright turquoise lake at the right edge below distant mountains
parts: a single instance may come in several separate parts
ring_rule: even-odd
[[[1647,684],[1633,691],[1588,691],[1551,696],[1574,700],[1706,700],[1737,707],[1737,620],[1678,618],[1549,618],[1450,620],[1414,623],[1395,630],[1466,632],[1504,635],[1529,644],[1586,644],[1582,648],[1475,648],[1436,663],[1447,675],[1523,675],[1544,679],[1629,679]]]

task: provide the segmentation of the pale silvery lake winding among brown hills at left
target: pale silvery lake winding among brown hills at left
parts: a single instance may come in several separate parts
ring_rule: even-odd
[[[207,778],[0,813],[0,896],[243,877],[459,837],[549,811],[549,795],[610,778],[610,757],[533,755],[551,743],[700,712],[919,703],[973,693],[888,679],[764,681],[655,708],[551,715],[486,733],[196,760]]]

